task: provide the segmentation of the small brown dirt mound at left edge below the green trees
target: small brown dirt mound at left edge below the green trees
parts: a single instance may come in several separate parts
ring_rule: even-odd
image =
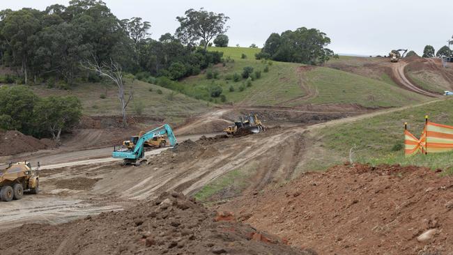
[[[50,139],[36,139],[16,130],[0,131],[0,156],[28,153],[55,147]]]

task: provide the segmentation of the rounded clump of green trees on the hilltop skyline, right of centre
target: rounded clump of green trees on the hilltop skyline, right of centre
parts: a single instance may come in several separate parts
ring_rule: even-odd
[[[316,65],[336,56],[326,48],[329,44],[330,38],[325,33],[301,27],[281,35],[272,33],[256,58]]]

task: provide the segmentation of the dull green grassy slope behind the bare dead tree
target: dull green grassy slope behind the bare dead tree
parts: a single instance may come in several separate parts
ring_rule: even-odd
[[[143,105],[144,115],[160,116],[163,118],[172,116],[187,116],[197,114],[209,109],[207,102],[195,100],[181,93],[176,93],[167,88],[162,88],[138,80],[126,81],[127,86],[132,86],[134,100],[128,106],[128,114],[137,114],[135,107]],[[76,95],[83,106],[83,113],[91,116],[119,115],[121,107],[116,94],[116,86],[98,84],[80,84],[64,91],[56,88],[46,88],[45,85],[31,86],[34,93],[40,96],[47,95]],[[162,94],[160,94],[160,92]],[[101,95],[106,95],[104,99]],[[128,95],[126,95],[128,96]]]

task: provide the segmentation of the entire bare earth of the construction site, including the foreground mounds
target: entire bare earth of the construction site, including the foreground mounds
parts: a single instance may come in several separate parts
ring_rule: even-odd
[[[428,95],[431,91],[418,93]],[[109,157],[114,144],[131,132],[138,134],[143,128],[139,125],[127,132],[112,125],[83,126],[63,139],[59,148],[3,154],[0,162],[27,160],[36,166],[40,161],[42,170],[40,194],[1,203],[0,242],[8,245],[1,245],[0,253],[93,254],[101,247],[109,254],[313,254],[308,248],[319,254],[417,254],[432,251],[433,246],[440,252],[451,251],[453,247],[447,244],[453,243],[452,229],[448,228],[453,218],[451,178],[440,178],[428,169],[362,165],[305,173],[305,158],[318,151],[313,147],[316,141],[307,139],[307,132],[394,110],[360,105],[222,107],[178,125],[178,146],[148,150],[146,162],[139,167],[122,166],[121,161]],[[250,111],[259,114],[269,127],[266,132],[240,137],[219,133],[237,116]],[[152,127],[160,121],[150,119],[146,125]],[[228,173],[236,178],[206,190],[206,185]],[[231,226],[213,225],[215,215],[190,199],[168,194],[159,198],[169,191],[189,197],[204,191],[210,194],[208,204],[213,210],[233,211],[254,229],[232,222],[225,223]],[[440,199],[435,201],[436,197]],[[160,210],[164,198],[176,208],[153,216],[151,212]],[[177,201],[188,203],[194,212],[180,212],[183,209]],[[175,220],[189,221],[187,215],[191,214],[199,222],[196,231],[189,228],[190,233],[197,233],[193,240],[179,236],[183,230],[173,224]],[[137,224],[136,218],[141,223]],[[228,229],[234,230],[225,234]],[[431,229],[435,231],[427,241],[417,241],[423,231]],[[250,233],[261,230],[270,233],[263,233],[269,237],[260,234],[257,239],[278,240],[272,241],[274,246],[266,246],[268,241],[250,246],[249,240],[254,240]],[[35,234],[25,235],[31,232]],[[178,235],[172,234],[175,232]],[[13,243],[8,239],[12,233],[23,238]],[[161,233],[159,240],[148,240],[148,236]],[[127,239],[123,245],[120,237]],[[208,243],[206,238],[213,240]],[[307,249],[285,247],[281,240]],[[150,247],[156,249],[151,252]]]

